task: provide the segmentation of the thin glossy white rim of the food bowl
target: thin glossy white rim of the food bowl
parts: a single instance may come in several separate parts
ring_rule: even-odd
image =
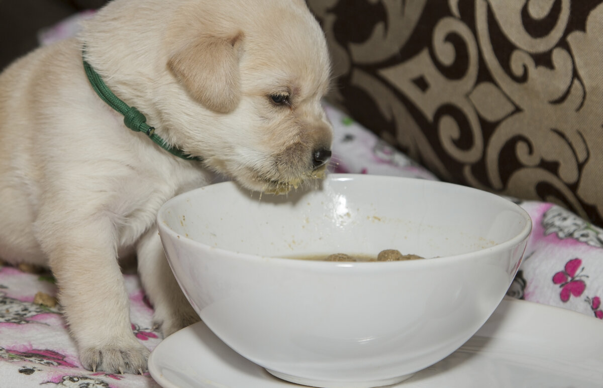
[[[195,189],[183,192],[181,194],[178,194],[177,196],[174,196],[171,199],[167,200],[161,206],[159,211],[157,212],[157,217],[156,217],[157,227],[159,229],[160,237],[162,238],[162,240],[163,240],[162,234],[165,233],[165,234],[171,235],[171,237],[174,240],[179,240],[186,244],[192,244],[192,246],[195,246],[195,247],[198,247],[201,249],[216,250],[217,252],[227,253],[228,255],[234,255],[235,257],[241,258],[244,260],[270,261],[270,262],[275,262],[275,263],[279,263],[279,264],[286,265],[286,266],[301,266],[301,267],[323,266],[323,267],[338,267],[338,268],[349,268],[349,269],[358,268],[358,269],[362,269],[362,270],[365,270],[365,268],[367,268],[367,266],[369,268],[374,268],[374,269],[391,267],[391,266],[400,266],[400,265],[403,265],[403,266],[421,265],[422,266],[422,265],[430,265],[429,263],[431,263],[431,262],[438,262],[438,263],[454,262],[454,261],[458,261],[458,260],[470,259],[475,255],[480,255],[480,256],[481,255],[491,255],[491,254],[497,253],[499,251],[511,249],[511,247],[514,247],[514,246],[519,246],[519,244],[521,244],[524,240],[528,239],[528,237],[532,231],[532,218],[529,216],[528,212],[526,212],[525,209],[523,209],[521,206],[517,205],[517,203],[514,203],[511,200],[506,199],[497,194],[493,194],[491,192],[473,188],[470,186],[458,185],[456,183],[442,182],[439,180],[427,180],[427,179],[420,179],[420,178],[385,176],[385,175],[376,175],[376,174],[368,175],[368,174],[330,173],[330,174],[327,174],[327,176],[324,180],[347,181],[347,180],[357,180],[357,179],[361,179],[361,180],[366,180],[366,179],[368,179],[368,180],[371,180],[371,179],[396,179],[396,180],[398,180],[398,179],[400,179],[400,180],[406,180],[408,182],[414,182],[414,183],[422,182],[421,184],[425,184],[425,185],[455,186],[456,189],[460,189],[460,190],[480,192],[481,193],[480,195],[490,197],[496,201],[505,203],[505,205],[507,205],[507,206],[511,206],[511,208],[513,208],[517,212],[517,214],[519,214],[523,218],[523,220],[525,221],[525,225],[514,237],[511,237],[510,239],[503,241],[502,243],[496,244],[494,246],[485,247],[485,248],[481,248],[478,250],[473,250],[472,252],[459,253],[456,255],[449,255],[449,256],[438,256],[437,260],[435,260],[435,261],[432,260],[435,258],[425,258],[425,259],[421,259],[421,260],[385,261],[385,262],[379,262],[379,264],[375,264],[376,262],[363,262],[363,261],[356,261],[356,262],[339,261],[338,262],[338,261],[323,261],[323,260],[303,260],[303,259],[295,259],[295,258],[291,258],[291,257],[284,258],[284,257],[279,257],[279,256],[255,255],[252,253],[238,252],[236,250],[229,250],[229,249],[224,249],[224,248],[220,248],[220,247],[210,246],[208,244],[201,243],[200,241],[194,240],[190,237],[180,235],[177,232],[175,232],[174,229],[169,227],[167,221],[165,221],[165,217],[163,216],[163,214],[165,214],[166,209],[169,206],[172,206],[172,203],[179,202],[180,200],[182,200],[183,197],[191,196],[191,195],[194,195],[196,192],[204,191],[209,186],[234,185],[234,186],[236,186],[236,188],[242,189],[241,186],[238,186],[238,184],[236,182],[226,181],[226,182],[213,183],[211,185],[206,185],[206,186],[202,186],[199,188],[195,188]],[[243,190],[251,192],[251,190],[247,190],[247,189],[243,189]],[[525,247],[524,247],[524,250],[525,250]],[[523,252],[522,252],[522,256],[523,256]],[[433,264],[433,265],[441,265],[441,264]]]

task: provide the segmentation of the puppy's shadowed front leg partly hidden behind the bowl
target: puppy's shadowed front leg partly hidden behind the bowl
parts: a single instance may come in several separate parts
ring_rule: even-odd
[[[167,337],[192,323],[199,316],[186,300],[169,268],[157,228],[153,227],[139,241],[138,272],[147,296],[155,309],[154,322]]]

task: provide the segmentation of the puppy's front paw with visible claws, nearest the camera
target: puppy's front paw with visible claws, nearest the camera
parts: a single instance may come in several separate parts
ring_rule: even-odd
[[[80,361],[89,371],[112,374],[143,374],[147,371],[150,352],[140,344],[136,346],[99,346],[80,351]]]

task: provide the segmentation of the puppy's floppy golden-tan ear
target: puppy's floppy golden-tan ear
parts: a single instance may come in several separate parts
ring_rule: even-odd
[[[231,112],[241,99],[239,48],[242,33],[232,37],[203,36],[177,51],[168,67],[203,106]]]

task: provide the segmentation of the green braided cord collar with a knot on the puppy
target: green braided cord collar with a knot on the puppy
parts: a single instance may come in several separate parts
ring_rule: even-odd
[[[94,89],[96,94],[98,94],[98,97],[103,99],[103,101],[105,101],[110,107],[124,115],[124,124],[126,127],[134,132],[144,132],[151,140],[159,145],[159,147],[175,156],[182,157],[182,159],[186,159],[187,161],[201,160],[198,157],[183,153],[183,151],[179,150],[178,148],[170,147],[162,138],[160,138],[160,136],[155,135],[155,129],[147,124],[147,118],[145,115],[140,113],[135,107],[128,106],[128,104],[124,103],[124,101],[119,100],[119,98],[113,94],[111,89],[109,89],[109,87],[103,82],[103,78],[101,78],[101,76],[94,71],[92,66],[90,66],[85,59],[83,59],[83,62],[84,70],[86,71],[90,84],[92,84],[92,89]]]

